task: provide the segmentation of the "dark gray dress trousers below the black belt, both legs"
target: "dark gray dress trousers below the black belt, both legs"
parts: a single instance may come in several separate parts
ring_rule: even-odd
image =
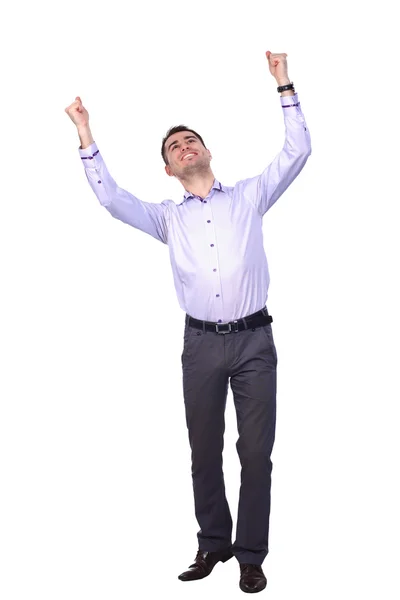
[[[217,334],[189,327],[186,317],[183,393],[192,451],[195,514],[200,526],[199,548],[214,552],[232,545],[232,517],[222,469],[230,380],[241,463],[236,540],[232,546],[239,563],[261,565],[268,554],[276,366],[271,324]]]

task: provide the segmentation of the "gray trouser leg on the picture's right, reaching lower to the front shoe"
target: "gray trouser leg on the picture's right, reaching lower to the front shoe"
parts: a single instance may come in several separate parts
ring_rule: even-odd
[[[277,355],[271,325],[237,335],[231,387],[241,486],[233,551],[240,563],[261,565],[268,554]]]

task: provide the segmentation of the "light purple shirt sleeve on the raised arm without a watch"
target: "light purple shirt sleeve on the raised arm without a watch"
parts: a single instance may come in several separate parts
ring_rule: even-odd
[[[108,172],[95,142],[84,150],[79,148],[79,154],[89,185],[100,204],[116,219],[168,244],[170,201],[164,200],[160,204],[143,202],[120,188]]]

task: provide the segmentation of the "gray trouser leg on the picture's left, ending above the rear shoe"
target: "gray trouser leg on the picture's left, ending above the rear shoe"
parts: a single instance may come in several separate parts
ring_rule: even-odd
[[[183,391],[199,548],[214,552],[230,546],[232,539],[222,468],[228,374],[222,336],[197,333],[185,330]]]

